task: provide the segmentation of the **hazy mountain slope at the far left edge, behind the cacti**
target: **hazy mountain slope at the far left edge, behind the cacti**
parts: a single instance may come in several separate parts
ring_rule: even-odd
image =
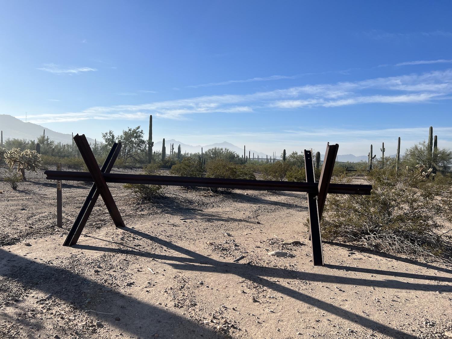
[[[41,125],[31,122],[23,122],[11,115],[0,114],[0,130],[3,131],[3,141],[10,138],[36,140],[46,130],[46,137],[63,144],[72,143],[72,135],[52,131]],[[88,142],[94,143],[94,139],[86,138]]]

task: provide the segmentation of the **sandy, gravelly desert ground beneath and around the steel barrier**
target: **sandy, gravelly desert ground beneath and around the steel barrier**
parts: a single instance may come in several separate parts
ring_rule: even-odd
[[[65,247],[89,183],[63,182],[62,229],[42,171],[0,183],[1,338],[452,338],[450,264],[324,243],[314,267],[304,193],[109,187],[126,227],[99,199]]]

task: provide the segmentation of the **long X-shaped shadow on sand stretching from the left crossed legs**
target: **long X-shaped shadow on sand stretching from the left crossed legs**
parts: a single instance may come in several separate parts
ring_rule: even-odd
[[[392,338],[407,338],[414,339],[416,336],[411,334],[406,334],[400,330],[393,329],[387,325],[381,324],[377,321],[366,318],[362,315],[353,313],[351,311],[344,310],[338,306],[331,305],[328,302],[322,301],[315,297],[311,297],[307,294],[292,290],[288,287],[284,287],[280,284],[272,282],[268,279],[261,278],[263,276],[272,277],[272,278],[292,278],[292,279],[301,279],[307,281],[314,282],[332,282],[337,284],[348,284],[348,285],[360,285],[360,286],[369,286],[369,287],[382,287],[382,288],[398,288],[398,289],[408,289],[408,290],[422,290],[422,291],[442,291],[442,292],[452,292],[452,287],[450,286],[442,286],[442,285],[432,285],[432,284],[423,284],[423,283],[407,283],[400,282],[397,280],[374,280],[374,279],[358,279],[358,278],[348,278],[348,277],[340,277],[336,275],[328,275],[328,274],[320,274],[320,273],[307,273],[307,272],[297,272],[287,269],[281,268],[270,268],[270,267],[262,267],[257,265],[245,265],[238,263],[225,263],[221,261],[217,261],[215,259],[211,259],[202,254],[198,254],[191,250],[187,250],[178,245],[174,245],[173,243],[162,240],[152,235],[148,235],[141,231],[137,231],[135,229],[131,229],[125,227],[123,230],[128,231],[134,235],[141,236],[145,239],[151,240],[157,244],[165,246],[170,250],[174,250],[179,252],[180,254],[186,256],[170,256],[170,255],[162,255],[162,254],[150,254],[144,251],[138,250],[122,250],[116,248],[105,248],[98,246],[89,246],[89,245],[76,245],[74,247],[85,249],[85,250],[99,250],[105,252],[117,252],[124,254],[131,254],[137,256],[143,256],[147,258],[155,258],[160,260],[168,260],[170,261],[170,266],[175,269],[180,270],[188,270],[188,271],[201,271],[201,272],[217,272],[217,273],[233,273],[242,278],[248,279],[250,281],[256,282],[264,287],[268,287],[273,289],[274,291],[285,294],[288,297],[292,297],[299,301],[302,301],[306,304],[315,306],[320,308],[326,312],[330,312],[331,314],[337,315],[343,319],[351,320],[357,322],[358,324],[367,327],[370,330],[378,331],[381,334],[388,335]],[[387,271],[381,271],[381,274],[385,274]],[[391,272],[393,276],[402,276],[408,278],[417,278],[417,279],[426,279],[425,275],[419,274],[411,274],[407,276],[409,273],[400,273],[400,272]],[[403,275],[402,275],[403,274]],[[434,280],[440,280],[439,277],[430,277],[434,278]],[[442,281],[452,282],[452,278],[443,278]]]

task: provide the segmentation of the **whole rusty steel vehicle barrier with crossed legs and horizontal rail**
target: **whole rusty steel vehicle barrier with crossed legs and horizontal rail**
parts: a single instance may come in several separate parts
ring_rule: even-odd
[[[80,154],[85,160],[89,172],[73,171],[50,171],[44,174],[49,180],[71,180],[71,181],[91,181],[94,182],[85,202],[75,218],[74,224],[66,237],[64,245],[71,246],[77,243],[86,221],[91,214],[99,195],[104,200],[105,206],[113,219],[116,227],[124,227],[124,221],[114,202],[113,196],[108,189],[107,183],[124,184],[154,184],[185,187],[218,187],[218,188],[241,188],[254,190],[292,191],[306,192],[308,195],[308,210],[310,223],[310,239],[312,245],[312,256],[315,266],[323,266],[322,238],[320,233],[320,220],[325,207],[327,193],[336,194],[360,194],[368,195],[372,190],[372,185],[360,184],[330,184],[333,174],[334,161],[339,149],[339,145],[326,146],[325,158],[322,165],[320,180],[315,182],[314,161],[311,150],[305,150],[306,183],[287,182],[272,180],[246,180],[246,179],[217,179],[217,178],[195,178],[195,177],[175,177],[168,175],[143,175],[143,174],[116,174],[110,173],[114,162],[121,150],[121,143],[114,143],[104,165],[99,168],[93,151],[86,140],[85,135],[76,135],[75,144],[79,148]]]

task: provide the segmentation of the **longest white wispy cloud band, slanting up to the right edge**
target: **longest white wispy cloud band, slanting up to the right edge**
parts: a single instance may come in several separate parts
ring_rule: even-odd
[[[92,107],[81,112],[40,114],[28,118],[37,123],[86,119],[144,120],[149,114],[161,118],[186,119],[188,115],[197,113],[253,113],[274,111],[275,108],[299,110],[358,104],[419,104],[451,97],[452,69],[447,69],[353,82],[295,86],[250,94],[206,95],[147,104]]]

